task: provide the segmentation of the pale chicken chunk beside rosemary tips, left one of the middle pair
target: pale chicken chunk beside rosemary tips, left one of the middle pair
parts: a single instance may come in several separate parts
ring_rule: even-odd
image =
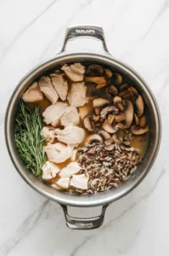
[[[44,117],[43,121],[49,125],[57,126],[59,125],[59,119],[62,114],[65,112],[65,109],[68,108],[68,104],[64,102],[56,102],[54,105],[49,106],[42,113]]]

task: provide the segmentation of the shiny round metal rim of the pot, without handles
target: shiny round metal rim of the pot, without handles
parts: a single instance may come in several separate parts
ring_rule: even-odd
[[[23,172],[23,166],[20,165],[20,160],[16,156],[14,152],[14,147],[11,142],[11,137],[10,137],[10,122],[11,122],[11,112],[13,110],[15,100],[16,100],[16,93],[20,89],[20,86],[25,82],[25,80],[29,79],[31,76],[35,75],[36,73],[39,73],[44,67],[48,66],[49,64],[52,64],[56,61],[64,61],[68,59],[68,57],[72,58],[80,58],[84,57],[85,59],[93,57],[96,61],[105,61],[112,65],[114,63],[117,67],[121,68],[123,71],[126,71],[129,73],[133,79],[135,79],[138,84],[144,88],[144,91],[146,91],[146,94],[149,96],[149,99],[151,99],[151,102],[153,104],[154,108],[154,114],[155,114],[155,123],[156,123],[156,139],[155,139],[155,145],[154,145],[154,150],[152,153],[151,160],[149,160],[149,163],[147,166],[145,166],[144,171],[141,172],[139,175],[135,175],[133,177],[132,182],[127,180],[126,183],[122,183],[121,186],[119,186],[116,189],[111,189],[104,191],[102,193],[98,193],[95,195],[72,195],[70,193],[65,193],[65,192],[60,192],[59,190],[55,190],[55,193],[53,191],[53,194],[51,194],[51,187],[48,187],[46,184],[42,183],[41,181],[37,180],[35,181],[35,178],[30,172],[26,173]],[[57,65],[57,64],[56,64]],[[97,52],[94,51],[70,51],[66,53],[60,53],[59,55],[56,55],[52,60],[43,62],[41,65],[33,68],[29,73],[25,75],[23,79],[21,79],[20,83],[17,85],[15,88],[12,96],[10,97],[10,100],[8,102],[8,108],[6,111],[5,115],[5,126],[4,126],[4,131],[5,131],[5,140],[8,148],[8,154],[10,155],[10,158],[17,170],[19,172],[20,176],[25,180],[27,184],[31,186],[32,189],[35,189],[38,193],[41,195],[46,196],[48,199],[52,201],[57,201],[61,205],[67,205],[71,207],[97,207],[97,206],[102,206],[105,204],[109,204],[112,201],[116,201],[120,199],[122,196],[127,195],[132,189],[135,189],[139,183],[144,179],[144,177],[148,174],[150,168],[153,166],[155,162],[156,155],[158,153],[158,150],[160,148],[160,143],[161,143],[161,118],[160,118],[160,112],[159,108],[157,106],[157,103],[155,101],[155,97],[153,96],[151,90],[149,90],[149,86],[146,84],[144,79],[138,75],[135,70],[132,69],[132,67],[129,67],[127,64],[122,63],[121,61],[116,60],[114,57],[107,53],[103,54],[98,54]],[[28,172],[28,171],[27,171]],[[32,177],[33,176],[33,177]],[[34,182],[33,182],[34,181]],[[41,184],[40,184],[41,183]],[[128,185],[130,184],[130,185]],[[45,187],[44,187],[45,186]],[[44,189],[43,189],[44,188]],[[48,188],[48,189],[47,189]],[[122,188],[122,189],[121,189]],[[53,189],[54,190],[54,189]]]

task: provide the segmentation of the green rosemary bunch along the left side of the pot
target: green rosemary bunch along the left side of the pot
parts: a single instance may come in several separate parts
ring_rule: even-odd
[[[33,110],[20,102],[19,112],[15,117],[15,143],[25,166],[34,175],[39,176],[45,161],[43,150],[42,119],[40,108]]]

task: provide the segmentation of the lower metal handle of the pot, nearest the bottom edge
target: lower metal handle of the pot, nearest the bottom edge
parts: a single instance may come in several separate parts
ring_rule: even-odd
[[[65,213],[65,221],[68,228],[73,230],[93,230],[99,228],[104,223],[105,211],[109,204],[102,207],[102,212],[99,216],[93,218],[75,218],[68,214],[67,207],[61,205]]]

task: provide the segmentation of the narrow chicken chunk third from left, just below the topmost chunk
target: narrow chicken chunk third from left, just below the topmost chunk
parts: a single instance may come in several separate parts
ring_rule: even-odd
[[[59,72],[50,74],[50,77],[52,79],[52,84],[54,85],[54,89],[57,91],[62,101],[66,100],[66,96],[68,93],[68,84],[64,76],[65,76],[64,73],[59,73]]]

